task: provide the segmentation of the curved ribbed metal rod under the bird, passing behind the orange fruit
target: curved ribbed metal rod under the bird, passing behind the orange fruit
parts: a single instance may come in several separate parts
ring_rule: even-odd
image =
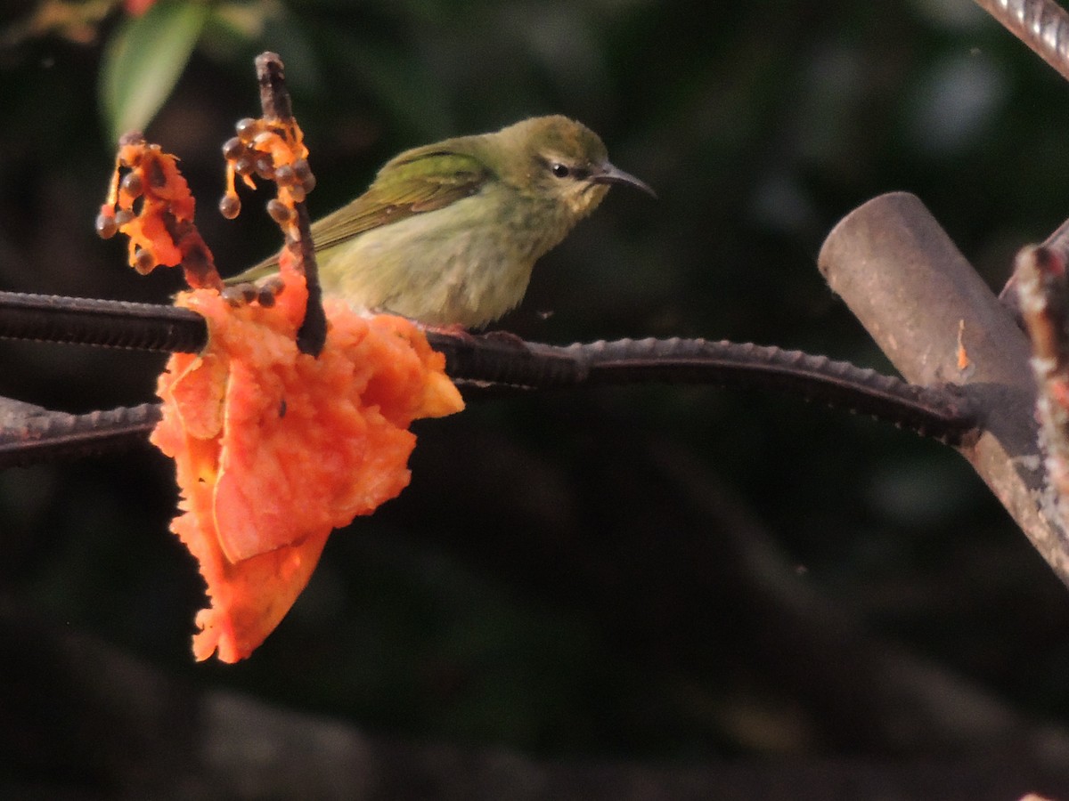
[[[568,347],[439,334],[434,339],[445,346],[450,375],[481,386],[543,390],[651,381],[759,386],[869,414],[951,444],[976,436],[975,412],[954,387],[918,387],[797,350],[680,339]],[[159,419],[155,405],[89,414],[40,411],[44,413],[31,409],[24,417],[9,415],[0,427],[0,469],[127,446],[148,435]]]

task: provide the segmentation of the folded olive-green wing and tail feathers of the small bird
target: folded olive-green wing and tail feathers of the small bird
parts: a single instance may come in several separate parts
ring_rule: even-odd
[[[406,151],[387,162],[363,194],[312,223],[315,250],[326,250],[365,231],[389,225],[475,194],[490,177],[476,157],[439,145]],[[278,269],[278,256],[228,279],[255,281]]]

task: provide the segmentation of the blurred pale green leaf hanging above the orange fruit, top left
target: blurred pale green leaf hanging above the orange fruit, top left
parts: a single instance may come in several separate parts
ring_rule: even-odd
[[[161,0],[115,31],[104,53],[99,88],[112,141],[143,129],[164,105],[207,16],[206,3]]]

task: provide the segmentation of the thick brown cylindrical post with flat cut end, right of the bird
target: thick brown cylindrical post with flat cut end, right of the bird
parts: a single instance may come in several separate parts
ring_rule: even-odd
[[[1069,584],[1069,536],[1041,501],[1029,346],[1010,312],[924,204],[904,192],[848,215],[825,240],[819,266],[909,381],[963,384],[982,434],[959,451]]]

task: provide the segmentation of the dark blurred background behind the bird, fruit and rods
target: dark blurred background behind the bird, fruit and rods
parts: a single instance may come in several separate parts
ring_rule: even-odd
[[[130,11],[5,9],[0,288],[166,302],[177,276],[138,277],[93,232],[115,125],[98,84]],[[706,336],[889,371],[817,271],[838,219],[915,192],[997,288],[1016,249],[1069,216],[1069,85],[969,0],[198,13],[146,134],[182,158],[224,272],[277,247],[258,201],[236,222],[215,211],[219,147],[258,113],[264,49],[286,64],[313,215],[405,147],[553,112],[656,188],[656,202],[611,192],[542,260],[499,324],[536,341]],[[142,54],[175,58],[170,45]],[[0,395],[133,405],[161,364],[0,342]],[[0,473],[0,787],[1069,797],[1069,591],[954,451],[704,388],[481,400],[417,430],[412,486],[331,537],[290,615],[234,666],[192,662],[202,584],[168,532],[162,456]],[[220,700],[233,706],[213,717]],[[468,761],[487,754],[513,755],[507,780],[489,771],[497,785]]]

